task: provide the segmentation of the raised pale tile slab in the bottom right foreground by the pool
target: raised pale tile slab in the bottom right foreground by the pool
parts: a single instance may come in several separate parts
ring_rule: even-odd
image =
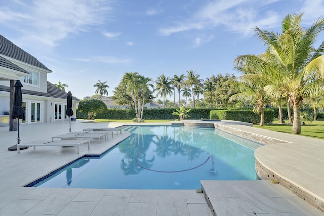
[[[280,184],[268,180],[201,180],[203,194],[217,216],[323,215]]]

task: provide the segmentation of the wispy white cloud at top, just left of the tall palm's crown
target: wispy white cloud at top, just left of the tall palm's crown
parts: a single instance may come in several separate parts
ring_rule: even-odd
[[[264,16],[264,11],[271,4],[278,0],[221,0],[213,1],[202,7],[200,10],[193,12],[189,18],[183,18],[183,21],[176,21],[167,28],[161,28],[161,34],[169,36],[173,33],[212,29],[220,25],[225,26],[230,31],[236,31],[244,35],[251,32],[251,28],[262,25],[273,26],[278,21],[277,13],[271,11],[267,17],[260,19],[260,13]],[[259,11],[260,9],[261,12]]]

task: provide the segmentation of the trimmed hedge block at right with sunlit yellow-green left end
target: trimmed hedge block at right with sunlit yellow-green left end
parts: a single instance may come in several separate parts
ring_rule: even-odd
[[[264,123],[272,123],[273,118],[273,110],[264,110]],[[260,115],[254,113],[253,110],[212,110],[210,112],[210,119],[243,121],[253,124],[260,123]]]

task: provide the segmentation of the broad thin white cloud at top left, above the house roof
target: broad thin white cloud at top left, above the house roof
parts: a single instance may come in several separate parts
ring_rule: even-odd
[[[71,34],[104,23],[111,7],[104,0],[16,1],[11,8],[0,7],[0,23],[22,35],[21,44],[54,47]],[[18,12],[19,11],[19,12]],[[109,15],[109,14],[108,14]]]

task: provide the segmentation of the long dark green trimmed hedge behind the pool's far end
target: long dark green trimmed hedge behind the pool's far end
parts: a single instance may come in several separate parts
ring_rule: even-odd
[[[192,108],[188,113],[189,119],[209,119],[212,108]],[[177,119],[178,116],[172,115],[175,108],[144,109],[144,119]],[[76,112],[77,118],[87,118],[87,113]],[[94,118],[97,119],[133,119],[136,118],[135,109],[108,109],[106,112],[98,113]]]

